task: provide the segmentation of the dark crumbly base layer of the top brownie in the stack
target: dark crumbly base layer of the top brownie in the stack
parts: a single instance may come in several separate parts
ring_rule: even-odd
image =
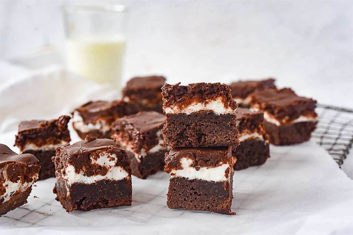
[[[238,146],[235,114],[217,115],[212,111],[167,114],[162,132],[170,147]]]

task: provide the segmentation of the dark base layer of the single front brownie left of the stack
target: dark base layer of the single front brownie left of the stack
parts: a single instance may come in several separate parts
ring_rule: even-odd
[[[67,193],[63,179],[57,179],[53,192],[67,212],[131,205],[131,178],[122,180],[100,180],[93,184],[74,183]]]

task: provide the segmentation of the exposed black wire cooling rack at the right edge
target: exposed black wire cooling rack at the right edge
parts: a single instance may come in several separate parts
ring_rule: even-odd
[[[319,122],[312,138],[341,166],[353,143],[353,110],[318,104]]]

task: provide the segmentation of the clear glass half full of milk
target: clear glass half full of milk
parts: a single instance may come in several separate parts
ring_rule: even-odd
[[[120,89],[125,6],[66,6],[64,17],[68,70]]]

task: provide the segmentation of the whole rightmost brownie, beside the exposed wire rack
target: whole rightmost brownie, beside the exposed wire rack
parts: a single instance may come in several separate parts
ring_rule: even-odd
[[[251,95],[251,100],[251,109],[264,113],[265,132],[271,144],[307,141],[316,128],[316,101],[300,97],[290,88],[259,91]]]

